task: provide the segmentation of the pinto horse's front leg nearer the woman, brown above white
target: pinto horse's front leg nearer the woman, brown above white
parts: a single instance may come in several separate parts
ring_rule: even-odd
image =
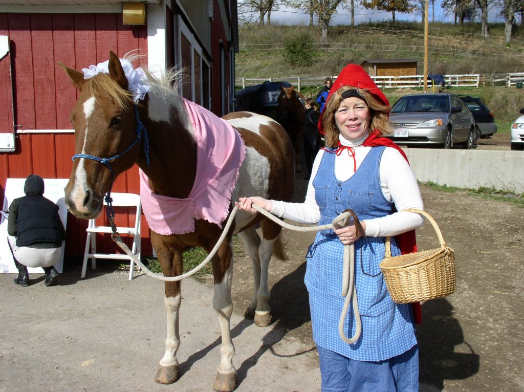
[[[222,344],[220,347],[220,365],[216,371],[213,389],[230,392],[236,388],[236,369],[233,366],[235,347],[231,340],[231,315],[233,300],[231,298],[231,282],[233,279],[233,243],[231,237],[226,237],[213,257],[214,296],[213,308],[219,317]]]

